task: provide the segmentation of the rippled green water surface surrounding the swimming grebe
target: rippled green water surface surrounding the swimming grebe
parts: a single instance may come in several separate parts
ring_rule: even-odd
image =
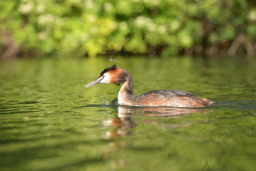
[[[186,90],[203,109],[111,105],[116,63],[135,94]],[[0,61],[1,170],[256,170],[255,58]]]

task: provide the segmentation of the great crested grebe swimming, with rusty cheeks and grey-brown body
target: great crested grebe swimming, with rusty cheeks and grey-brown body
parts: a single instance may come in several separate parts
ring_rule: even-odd
[[[118,86],[123,83],[118,93],[119,105],[203,108],[214,103],[207,98],[198,98],[183,90],[152,90],[133,95],[133,77],[128,71],[116,65],[104,69],[101,76],[96,81],[88,83],[85,88],[98,83],[114,83]]]

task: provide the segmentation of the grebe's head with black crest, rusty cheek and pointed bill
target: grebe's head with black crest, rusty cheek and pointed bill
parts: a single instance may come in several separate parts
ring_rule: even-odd
[[[101,72],[101,76],[91,83],[88,83],[85,88],[96,85],[98,83],[114,83],[120,85],[121,83],[126,82],[127,74],[122,68],[118,68],[116,65],[105,68]]]

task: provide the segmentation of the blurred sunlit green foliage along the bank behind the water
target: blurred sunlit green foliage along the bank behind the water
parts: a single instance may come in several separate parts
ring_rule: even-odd
[[[0,6],[2,58],[256,51],[254,0],[2,0]]]

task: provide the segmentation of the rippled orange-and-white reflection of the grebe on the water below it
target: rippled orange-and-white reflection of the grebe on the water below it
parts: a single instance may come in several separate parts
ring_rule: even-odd
[[[106,132],[106,139],[117,139],[121,136],[127,136],[133,134],[133,128],[135,128],[135,117],[143,117],[143,122],[157,122],[160,118],[185,118],[191,113],[207,113],[213,107],[208,108],[173,108],[173,107],[135,107],[135,106],[122,106],[118,105],[117,98],[111,102],[111,104],[103,105],[83,105],[75,108],[114,108],[117,115],[103,120],[103,127],[113,128]],[[150,118],[150,119],[147,119]],[[149,121],[150,120],[150,121]],[[177,128],[180,126],[188,125],[160,125],[165,128]]]

